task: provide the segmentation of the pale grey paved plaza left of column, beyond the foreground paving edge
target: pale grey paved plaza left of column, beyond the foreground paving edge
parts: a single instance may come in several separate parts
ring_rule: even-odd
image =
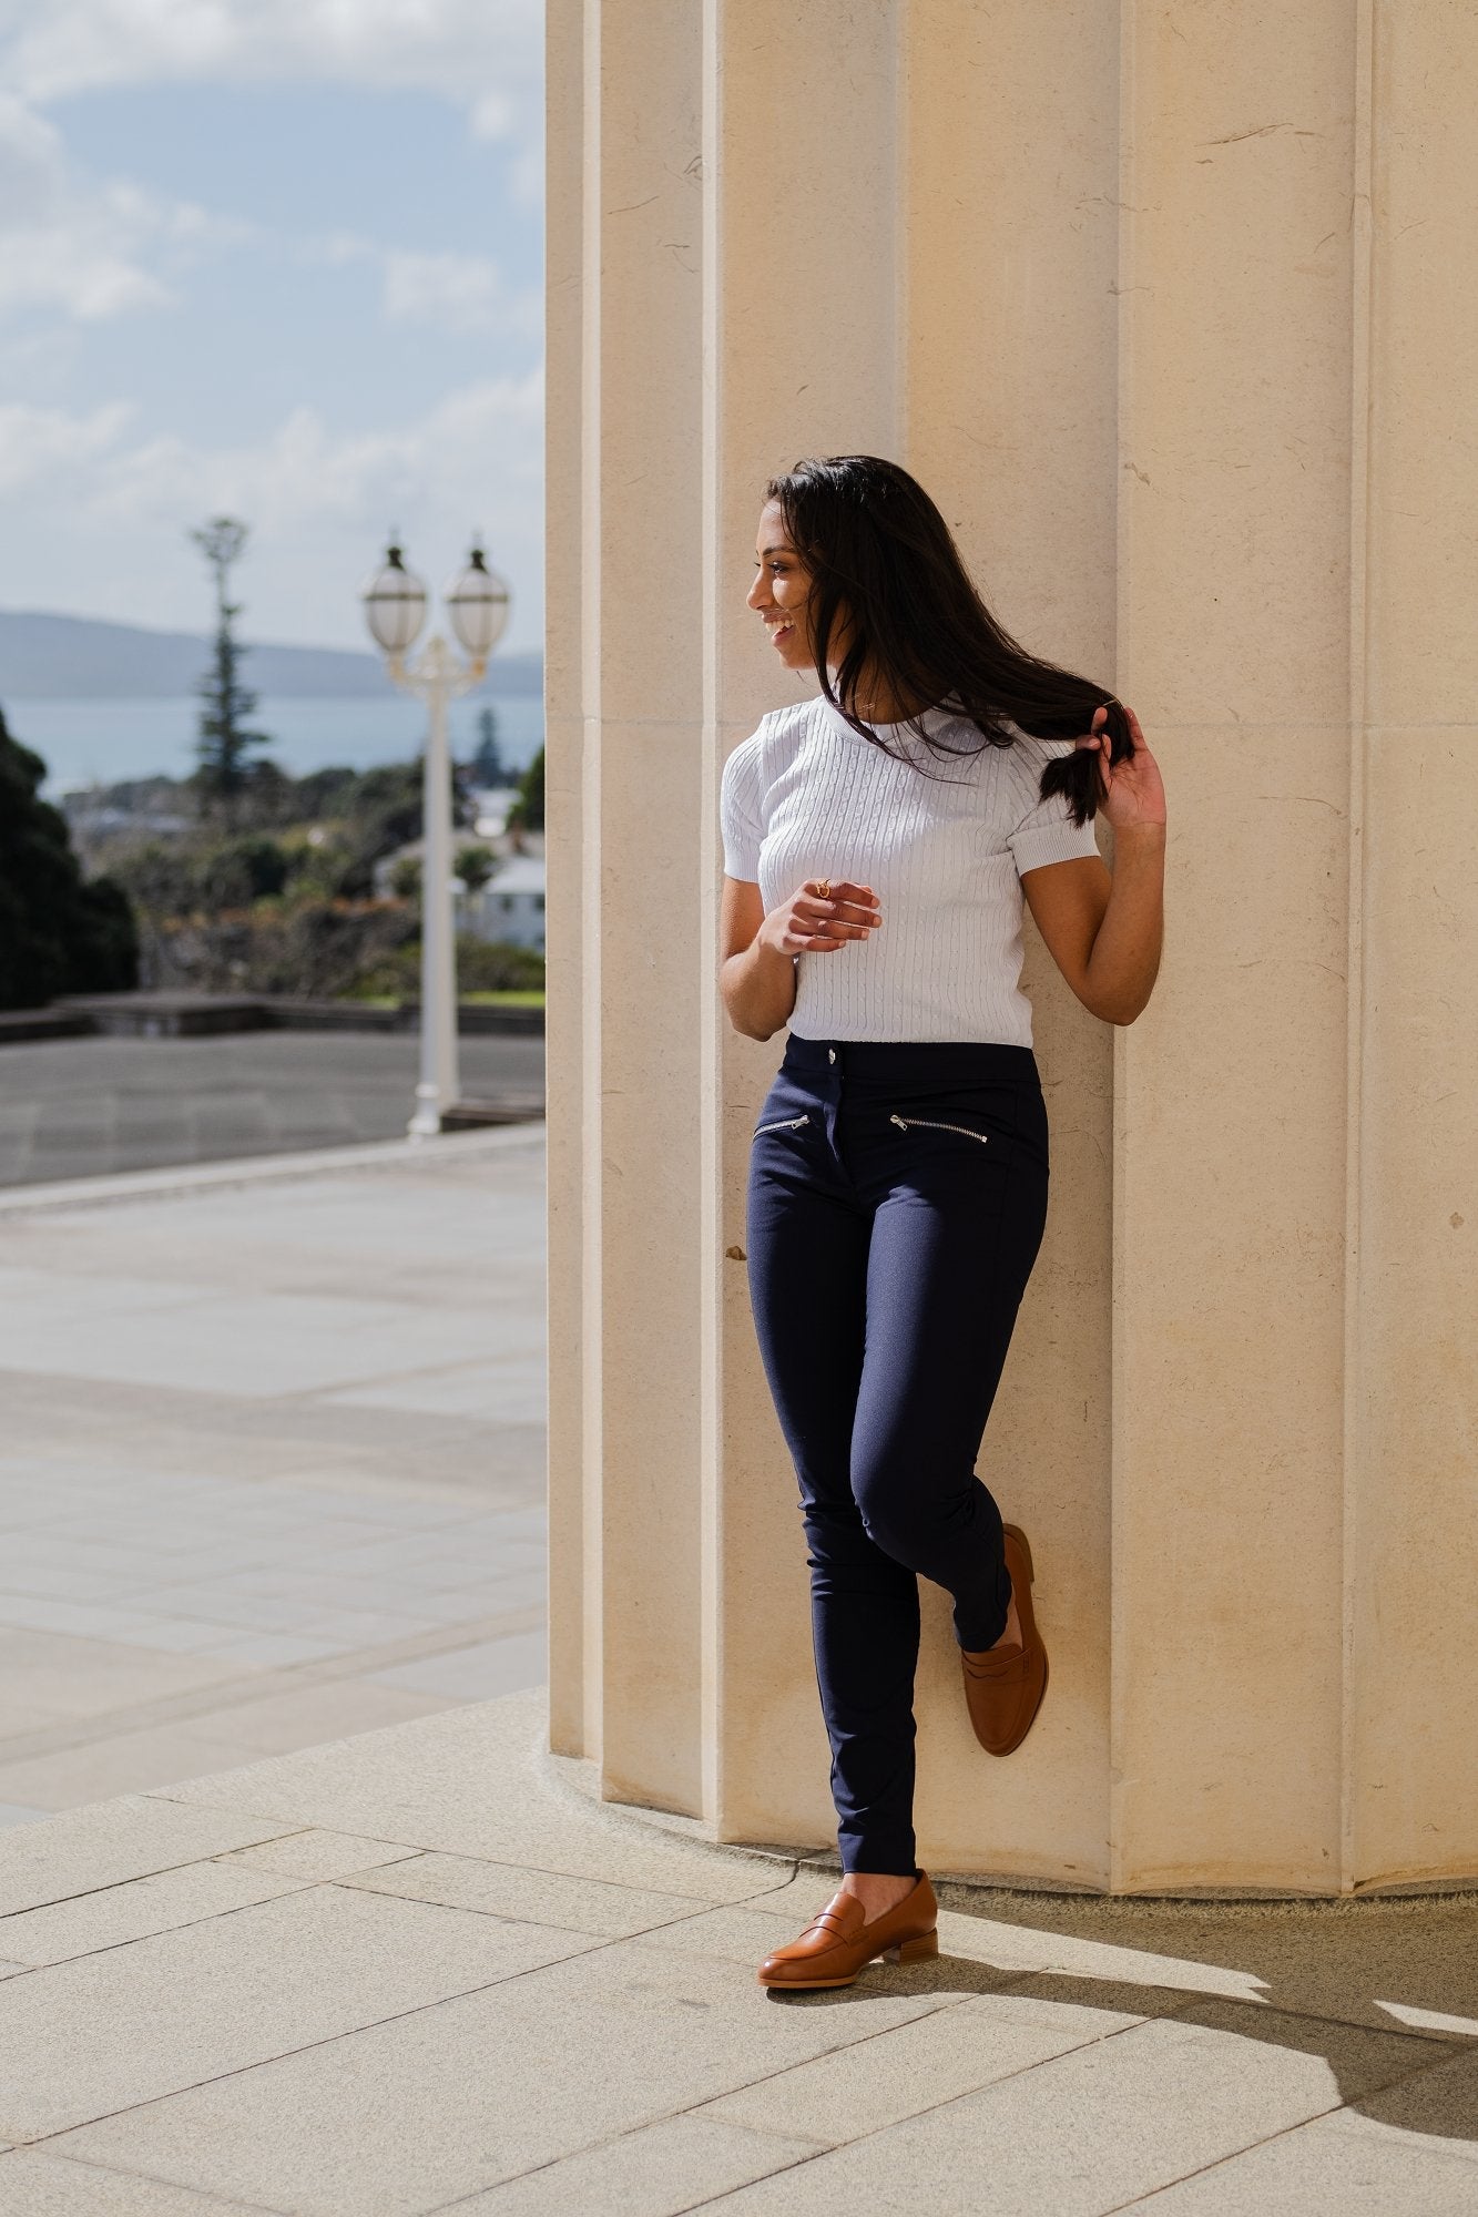
[[[541,1128],[173,1177],[0,1195],[7,1825],[546,1674]]]

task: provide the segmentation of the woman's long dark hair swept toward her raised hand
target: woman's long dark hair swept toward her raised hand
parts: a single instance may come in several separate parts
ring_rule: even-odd
[[[925,707],[972,723],[981,747],[1010,747],[1010,725],[1034,738],[1076,738],[1090,729],[1094,709],[1107,707],[1110,760],[1134,754],[1130,721],[1107,687],[1039,661],[1001,630],[950,525],[897,461],[877,454],[797,461],[788,477],[770,479],[766,497],[779,501],[790,543],[810,570],[821,692],[883,754],[899,749],[857,714],[863,674],[870,683],[881,678],[901,703],[923,703],[905,729],[937,756],[961,749],[932,738],[921,723]],[[832,685],[828,650],[841,621],[848,645]],[[1079,747],[1047,763],[1041,798],[1052,794],[1067,796],[1076,825],[1096,816],[1096,749]]]

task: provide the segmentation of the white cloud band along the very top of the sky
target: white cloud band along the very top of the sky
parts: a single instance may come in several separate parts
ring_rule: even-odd
[[[541,0],[0,0],[0,75],[31,102],[120,84],[431,91],[484,137],[541,129]]]

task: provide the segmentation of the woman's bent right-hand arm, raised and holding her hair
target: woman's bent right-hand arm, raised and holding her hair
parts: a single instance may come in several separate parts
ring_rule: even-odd
[[[1112,769],[1099,716],[1079,740],[1099,752],[1099,807],[1114,827],[1114,873],[1101,856],[1081,856],[1027,869],[1021,880],[1052,960],[1105,1024],[1132,1024],[1145,1009],[1165,944],[1165,787],[1134,709],[1125,714],[1134,754]]]

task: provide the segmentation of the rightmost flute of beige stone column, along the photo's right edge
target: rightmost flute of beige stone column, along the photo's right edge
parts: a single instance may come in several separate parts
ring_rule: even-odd
[[[1360,11],[1347,1882],[1478,1871],[1476,73],[1460,0]]]

